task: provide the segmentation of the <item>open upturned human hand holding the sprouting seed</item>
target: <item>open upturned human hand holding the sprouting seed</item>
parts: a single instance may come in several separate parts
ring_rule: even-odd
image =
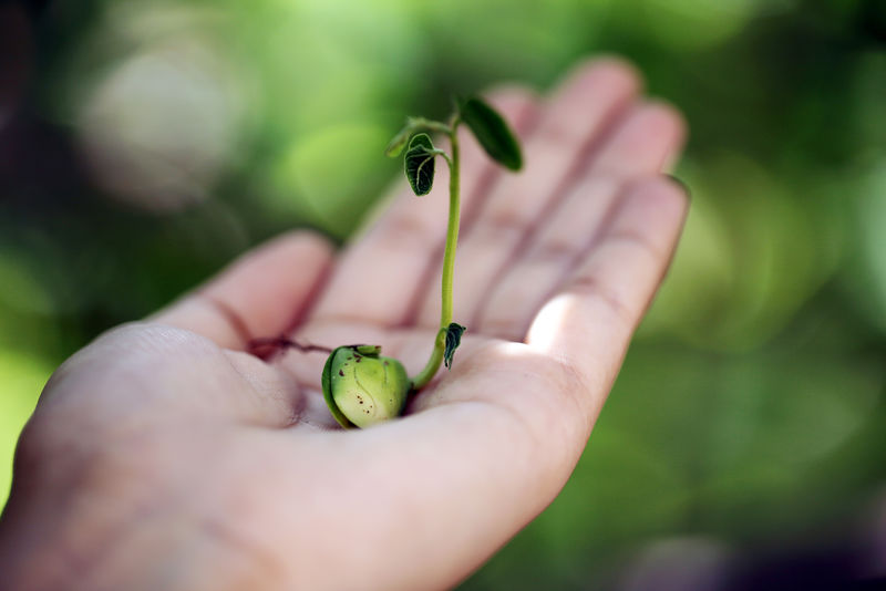
[[[439,322],[442,178],[399,189],[337,260],[312,234],[279,238],[65,362],[0,521],[12,588],[436,589],[476,569],[566,483],[680,232],[687,200],[660,172],[682,123],[638,85],[600,60],[549,97],[488,95],[526,169],[465,136],[468,330],[404,418],[339,431],[322,354],[244,350],[381,344],[416,373]]]

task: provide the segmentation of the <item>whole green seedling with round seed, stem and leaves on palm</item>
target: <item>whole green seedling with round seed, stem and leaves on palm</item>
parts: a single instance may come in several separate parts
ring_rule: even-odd
[[[403,364],[395,359],[381,356],[381,346],[378,345],[346,345],[330,353],[323,367],[323,397],[332,416],[344,428],[368,427],[399,416],[409,396],[431,382],[441,363],[452,367],[453,355],[465,331],[464,326],[452,321],[452,279],[460,221],[457,131],[462,124],[471,129],[495,162],[511,170],[519,170],[523,166],[519,145],[507,123],[475,96],[457,101],[449,123],[408,118],[405,126],[388,144],[385,154],[391,157],[405,149],[406,180],[419,197],[431,193],[437,156],[450,167],[450,214],[443,253],[440,330],[434,338],[431,357],[414,377],[408,377]],[[449,154],[434,146],[427,132],[449,138]]]

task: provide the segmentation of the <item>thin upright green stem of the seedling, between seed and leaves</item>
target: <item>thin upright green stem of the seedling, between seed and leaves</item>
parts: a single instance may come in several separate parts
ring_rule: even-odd
[[[449,126],[452,156],[446,158],[450,165],[450,220],[446,227],[446,250],[443,253],[443,280],[441,281],[440,330],[434,339],[434,350],[424,369],[412,380],[412,388],[420,390],[434,377],[443,363],[443,351],[446,346],[446,329],[452,322],[452,278],[455,268],[455,245],[459,241],[459,221],[461,206],[459,204],[459,136],[457,118]]]

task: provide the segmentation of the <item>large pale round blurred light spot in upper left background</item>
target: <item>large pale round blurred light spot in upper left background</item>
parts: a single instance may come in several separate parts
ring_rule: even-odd
[[[97,183],[120,201],[169,211],[207,198],[236,154],[244,101],[207,40],[163,39],[120,63],[79,116]]]

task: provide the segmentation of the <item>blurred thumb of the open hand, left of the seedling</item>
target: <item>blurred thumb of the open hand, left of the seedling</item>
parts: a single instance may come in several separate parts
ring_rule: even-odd
[[[148,320],[241,350],[249,340],[281,334],[303,318],[331,257],[330,243],[319,235],[281,236]]]

